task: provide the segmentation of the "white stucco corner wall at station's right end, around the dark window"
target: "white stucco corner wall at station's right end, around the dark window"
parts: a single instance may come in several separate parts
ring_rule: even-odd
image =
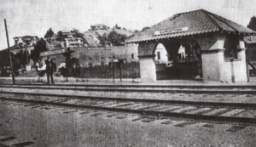
[[[247,82],[245,46],[239,39],[237,59],[224,60],[224,37],[221,36],[201,54],[204,81]]]

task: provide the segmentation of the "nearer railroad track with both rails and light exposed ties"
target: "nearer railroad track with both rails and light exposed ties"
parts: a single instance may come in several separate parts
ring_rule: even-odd
[[[15,94],[4,96],[6,94]],[[18,94],[18,95],[17,95]],[[67,96],[45,93],[1,92],[1,102],[8,105],[26,103],[33,108],[51,105],[75,109],[106,110],[120,113],[133,113],[139,116],[155,116],[156,119],[182,119],[189,122],[231,123],[256,125],[256,104],[214,103],[156,99],[123,99],[108,97]],[[41,98],[36,98],[37,96]],[[43,97],[42,97],[43,96]],[[142,117],[143,118],[143,117]]]

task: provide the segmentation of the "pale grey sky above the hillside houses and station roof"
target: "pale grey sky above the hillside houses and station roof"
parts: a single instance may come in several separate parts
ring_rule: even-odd
[[[256,15],[256,0],[0,0],[0,50],[7,48],[3,19],[6,19],[9,44],[13,37],[44,37],[49,28],[90,29],[90,25],[118,24],[128,30],[142,30],[173,14],[205,9],[240,25],[247,26]]]

